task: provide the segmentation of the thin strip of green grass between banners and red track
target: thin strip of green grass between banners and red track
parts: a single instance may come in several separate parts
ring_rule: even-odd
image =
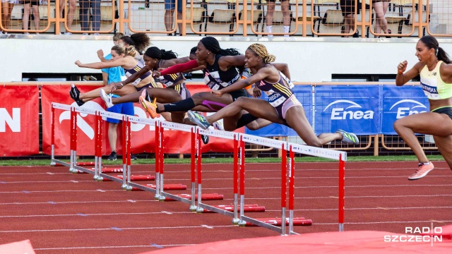
[[[432,161],[444,161],[441,155],[428,156]],[[69,160],[65,160],[69,162]],[[93,162],[94,159],[81,159],[78,162]],[[408,156],[354,156],[347,157],[347,162],[405,162],[405,161],[417,161],[414,155]],[[189,164],[190,159],[165,159],[166,164]],[[281,159],[278,158],[246,158],[246,163],[278,163]],[[299,157],[295,158],[295,162],[334,162],[332,159],[322,159],[318,157]],[[232,163],[232,158],[203,158],[203,163]],[[49,159],[5,159],[0,160],[0,166],[48,166],[50,164]],[[108,161],[102,159],[104,165],[120,165],[122,159],[117,161]],[[155,159],[138,159],[132,161],[132,164],[155,164]]]

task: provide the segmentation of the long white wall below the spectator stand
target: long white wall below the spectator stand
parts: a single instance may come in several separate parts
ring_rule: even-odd
[[[78,68],[82,63],[98,61],[97,49],[105,54],[112,47],[111,36],[0,35],[0,82],[20,81],[22,73],[93,73]],[[332,73],[396,73],[400,61],[408,66],[417,62],[417,38],[357,39],[328,37],[217,37],[222,48],[242,52],[254,42],[268,48],[276,61],[288,63],[292,80],[331,81]],[[151,37],[154,46],[188,56],[201,37]],[[452,54],[452,40],[439,40],[440,47]],[[100,72],[100,71],[99,71]]]

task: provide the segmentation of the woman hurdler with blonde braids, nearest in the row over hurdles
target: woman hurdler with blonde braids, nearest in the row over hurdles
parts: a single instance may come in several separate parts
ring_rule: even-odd
[[[210,123],[231,116],[240,116],[243,110],[246,110],[249,114],[258,118],[289,126],[297,132],[307,145],[320,147],[333,140],[343,140],[345,143],[352,144],[359,143],[357,135],[342,130],[316,136],[304,114],[302,104],[299,103],[280,71],[270,64],[273,61],[275,61],[275,56],[268,54],[263,44],[251,44],[245,52],[245,67],[256,70],[256,73],[221,90],[212,90],[213,94],[221,96],[226,92],[239,90],[257,83],[256,86],[267,93],[268,101],[239,97],[235,102],[211,116],[204,117],[196,112],[189,111],[189,119],[201,128],[206,129],[210,126]]]

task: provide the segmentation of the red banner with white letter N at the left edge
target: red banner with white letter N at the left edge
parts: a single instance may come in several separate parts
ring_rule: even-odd
[[[0,88],[0,156],[39,153],[39,89],[37,85]]]

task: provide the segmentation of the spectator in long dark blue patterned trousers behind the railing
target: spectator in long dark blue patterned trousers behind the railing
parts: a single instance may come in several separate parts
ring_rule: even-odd
[[[99,35],[100,30],[100,0],[80,0],[80,19],[83,35],[88,35],[90,30],[90,7],[93,10],[93,31],[94,35]]]

